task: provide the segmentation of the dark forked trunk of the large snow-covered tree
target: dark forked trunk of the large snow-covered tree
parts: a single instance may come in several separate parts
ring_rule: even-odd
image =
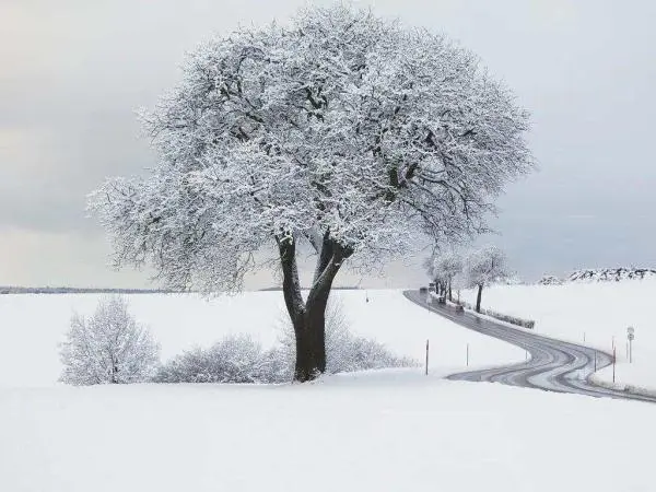
[[[326,372],[326,306],[332,281],[352,250],[332,242],[328,234],[324,236],[315,279],[307,301],[303,302],[296,267],[296,242],[292,238],[278,239],[278,247],[282,291],[296,339],[294,380],[312,380]]]

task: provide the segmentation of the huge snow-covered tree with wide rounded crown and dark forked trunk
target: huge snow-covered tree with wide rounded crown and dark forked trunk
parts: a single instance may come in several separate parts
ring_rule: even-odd
[[[484,230],[504,185],[532,167],[527,113],[475,55],[343,4],[206,43],[143,119],[159,165],[91,198],[117,265],[238,291],[276,246],[297,380],[326,370],[325,308],[344,262],[373,268],[422,236]],[[306,298],[303,243],[317,254]]]

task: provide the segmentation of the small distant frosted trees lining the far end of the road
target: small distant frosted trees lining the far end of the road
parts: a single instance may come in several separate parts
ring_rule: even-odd
[[[483,246],[470,251],[444,248],[425,261],[429,277],[438,294],[453,301],[453,291],[478,289],[476,311],[481,311],[483,288],[509,276],[505,254],[496,246]]]

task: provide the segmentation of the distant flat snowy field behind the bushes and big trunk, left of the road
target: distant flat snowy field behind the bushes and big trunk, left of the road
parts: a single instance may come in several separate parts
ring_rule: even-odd
[[[370,302],[366,302],[368,295]],[[56,384],[61,366],[57,344],[73,311],[93,313],[97,294],[0,295],[0,387]],[[130,312],[148,325],[166,360],[195,344],[210,345],[229,333],[250,333],[262,345],[276,343],[286,319],[281,292],[247,292],[207,301],[198,295],[134,294]],[[465,329],[413,305],[400,291],[337,291],[351,330],[385,343],[398,355],[424,361],[448,374],[522,361],[523,350]]]

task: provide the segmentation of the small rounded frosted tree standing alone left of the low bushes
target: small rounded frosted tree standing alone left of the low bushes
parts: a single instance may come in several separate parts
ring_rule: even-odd
[[[90,318],[73,315],[60,360],[62,383],[142,383],[154,374],[160,347],[130,316],[126,300],[115,296],[101,301]]]

